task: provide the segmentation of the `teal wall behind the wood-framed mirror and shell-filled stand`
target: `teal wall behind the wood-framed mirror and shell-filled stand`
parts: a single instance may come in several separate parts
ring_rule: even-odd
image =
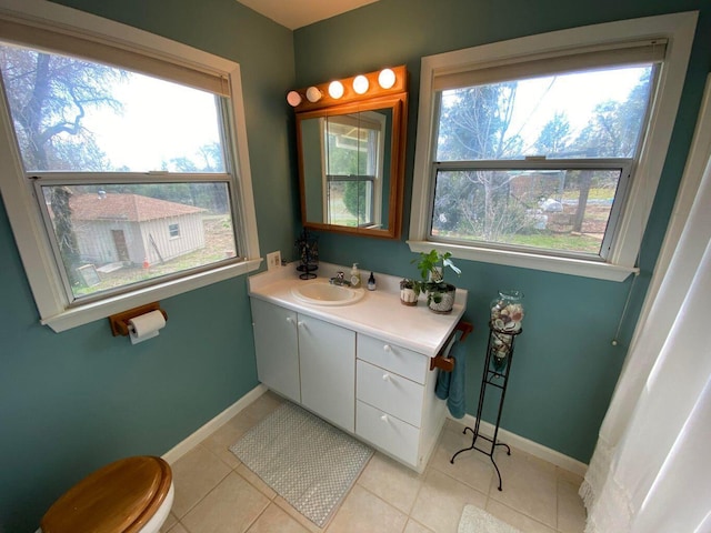
[[[405,170],[404,231],[399,242],[320,234],[324,261],[363,271],[417,275],[405,244],[420,58],[449,50],[564,28],[700,10],[691,63],[671,148],[641,250],[641,274],[623,283],[553,274],[512,266],[457,261],[469,291],[465,318],[475,331],[461,345],[468,356],[467,410],[474,414],[485,352],[488,304],[498,288],[525,295],[523,334],[507,392],[502,425],[521,436],[588,462],[610,401],[644,292],[649,284],[689,150],[705,76],[711,66],[711,2],[708,0],[380,0],[294,32],[297,87],[332,78],[407,64],[410,108]],[[618,324],[630,303],[618,345]],[[493,398],[492,400],[495,400]],[[493,402],[492,402],[493,403]],[[493,422],[493,405],[484,418]]]

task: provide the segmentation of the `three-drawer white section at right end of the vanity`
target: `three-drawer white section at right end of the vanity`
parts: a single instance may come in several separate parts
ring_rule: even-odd
[[[430,358],[358,335],[356,434],[422,471],[444,423]]]

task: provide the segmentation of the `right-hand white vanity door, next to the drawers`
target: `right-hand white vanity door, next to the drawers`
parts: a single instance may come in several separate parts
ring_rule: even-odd
[[[332,422],[356,431],[356,333],[299,315],[301,403]]]

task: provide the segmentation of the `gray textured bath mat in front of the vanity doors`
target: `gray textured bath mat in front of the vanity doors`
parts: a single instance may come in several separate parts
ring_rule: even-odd
[[[289,402],[230,451],[319,527],[373,454],[365,444]]]

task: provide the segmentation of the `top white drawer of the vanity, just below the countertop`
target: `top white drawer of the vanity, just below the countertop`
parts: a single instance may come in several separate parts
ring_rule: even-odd
[[[358,334],[358,359],[418,383],[424,383],[430,364],[427,355],[361,334]]]

